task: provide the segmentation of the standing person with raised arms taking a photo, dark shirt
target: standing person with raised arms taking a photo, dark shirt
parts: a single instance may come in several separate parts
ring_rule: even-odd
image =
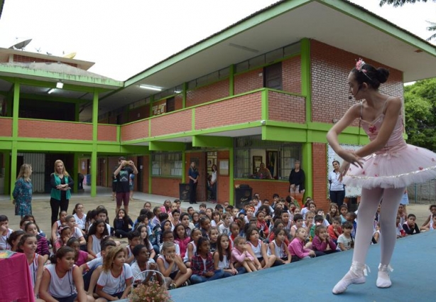
[[[118,210],[121,204],[124,205],[126,216],[129,214],[129,200],[130,200],[130,174],[138,174],[138,169],[133,161],[126,161],[124,156],[118,158],[119,166],[114,171],[114,177],[116,178],[116,207],[115,213],[118,214]]]

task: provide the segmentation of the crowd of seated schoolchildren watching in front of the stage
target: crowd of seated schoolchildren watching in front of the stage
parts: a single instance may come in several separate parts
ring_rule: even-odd
[[[135,282],[152,277],[171,289],[346,251],[354,247],[358,227],[358,211],[332,203],[325,215],[311,198],[300,209],[289,196],[274,194],[270,203],[256,194],[241,209],[203,203],[198,212],[192,207],[184,212],[179,200],[168,201],[153,209],[145,203],[134,223],[120,209],[112,227],[103,206],[85,215],[78,203],[73,215],[60,212],[51,243],[32,215],[24,216],[16,231],[0,215],[0,249],[26,254],[38,301],[80,296],[104,302],[126,298]],[[382,236],[380,209],[374,213],[374,244]],[[436,205],[430,212],[418,227],[415,215],[400,205],[397,237],[435,230]],[[119,247],[120,237],[127,237],[126,247]]]

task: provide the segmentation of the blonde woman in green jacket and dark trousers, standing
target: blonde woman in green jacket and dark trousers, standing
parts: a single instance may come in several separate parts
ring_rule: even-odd
[[[59,209],[68,211],[68,203],[71,198],[71,188],[74,181],[70,174],[65,170],[63,161],[55,161],[55,172],[50,176],[50,207],[51,207],[51,224],[58,220]]]

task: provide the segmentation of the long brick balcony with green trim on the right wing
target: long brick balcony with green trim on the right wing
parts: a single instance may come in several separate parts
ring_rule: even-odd
[[[305,97],[262,88],[121,126],[121,142],[256,128],[262,120],[305,124]]]

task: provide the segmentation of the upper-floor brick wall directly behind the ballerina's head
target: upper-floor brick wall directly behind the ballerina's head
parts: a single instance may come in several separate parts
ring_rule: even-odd
[[[333,119],[340,119],[347,109],[356,103],[355,99],[348,99],[347,77],[354,67],[355,60],[360,57],[361,55],[319,41],[311,41],[312,122],[332,123]],[[388,82],[381,85],[381,92],[403,97],[402,72],[369,58],[364,60],[376,68],[388,68],[391,72]],[[358,124],[359,122],[354,122],[354,125]]]

